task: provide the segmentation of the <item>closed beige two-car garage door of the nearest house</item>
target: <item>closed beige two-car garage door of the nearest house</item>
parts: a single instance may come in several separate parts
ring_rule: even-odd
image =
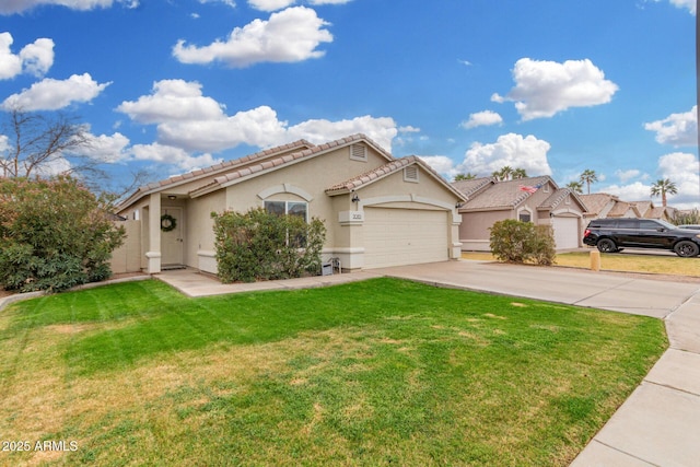
[[[447,212],[364,209],[364,267],[446,261]]]

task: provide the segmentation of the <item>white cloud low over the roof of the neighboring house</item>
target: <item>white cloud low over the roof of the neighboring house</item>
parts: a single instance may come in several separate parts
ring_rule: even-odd
[[[457,166],[459,173],[472,173],[479,176],[491,175],[505,165],[524,168],[528,175],[550,175],[547,152],[551,145],[529,135],[508,133],[500,136],[497,142],[489,144],[474,143]]]

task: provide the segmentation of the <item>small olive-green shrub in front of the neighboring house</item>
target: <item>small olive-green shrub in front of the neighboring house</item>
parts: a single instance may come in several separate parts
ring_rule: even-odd
[[[555,238],[550,225],[535,225],[508,219],[493,224],[490,236],[491,253],[501,261],[555,262]]]

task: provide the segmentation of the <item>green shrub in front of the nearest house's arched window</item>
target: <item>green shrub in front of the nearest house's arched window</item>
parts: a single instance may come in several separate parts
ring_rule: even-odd
[[[223,282],[289,279],[320,271],[323,221],[258,208],[212,213],[219,278]]]

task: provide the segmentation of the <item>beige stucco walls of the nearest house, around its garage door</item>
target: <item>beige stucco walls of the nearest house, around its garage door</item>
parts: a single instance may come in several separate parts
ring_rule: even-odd
[[[362,266],[362,220],[349,222],[351,213],[360,213],[364,206],[377,206],[402,209],[443,210],[451,219],[450,244],[459,255],[459,217],[455,205],[457,196],[444,185],[419,168],[419,182],[404,180],[404,171],[368,184],[357,190],[360,202],[352,202],[352,194],[335,197],[326,195],[326,189],[353,176],[383,166],[388,161],[383,154],[368,145],[366,161],[350,157],[350,148],[302,159],[296,163],[283,165],[267,173],[258,173],[249,178],[238,179],[207,195],[190,198],[188,192],[205,185],[202,179],[186,183],[178,187],[164,188],[161,195],[161,208],[183,208],[184,264],[208,272],[217,272],[214,259],[214,234],[211,212],[234,210],[245,212],[250,208],[264,207],[266,200],[307,201],[308,215],[325,222],[327,241],[324,259],[339,256],[343,268],[354,269]],[[174,195],[175,200],[168,199]],[[152,200],[152,199],[151,199]],[[122,210],[122,215],[132,215],[139,210],[141,219],[141,268],[149,268],[149,197]],[[160,217],[160,212],[158,213]]]

